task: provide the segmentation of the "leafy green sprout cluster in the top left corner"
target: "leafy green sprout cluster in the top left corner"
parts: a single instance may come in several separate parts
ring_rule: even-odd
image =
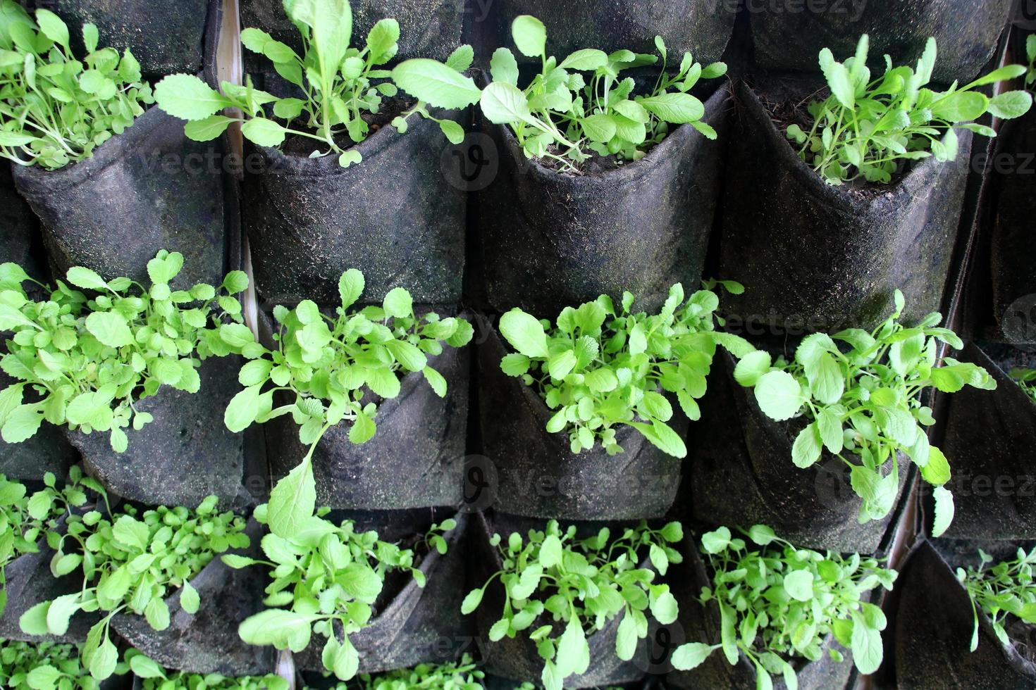
[[[133,124],[154,102],[140,63],[126,49],[97,48],[97,27],[83,25],[86,55],[76,58],[68,27],[13,0],[0,3],[0,156],[57,170]]]

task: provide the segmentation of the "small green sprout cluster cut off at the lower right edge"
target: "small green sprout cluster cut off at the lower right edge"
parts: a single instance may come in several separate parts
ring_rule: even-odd
[[[1006,647],[1012,642],[1008,626],[1013,621],[1036,625],[1036,583],[1033,582],[1033,564],[1036,548],[1028,553],[1018,548],[1013,561],[1003,561],[987,568],[992,557],[979,549],[981,564],[978,568],[957,568],[957,580],[968,590],[972,602],[975,625],[972,629],[971,651],[978,649],[978,609],[981,608],[998,639]]]

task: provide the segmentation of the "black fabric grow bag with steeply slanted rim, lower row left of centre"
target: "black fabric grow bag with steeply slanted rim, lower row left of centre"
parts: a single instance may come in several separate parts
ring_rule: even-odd
[[[449,544],[445,554],[432,549],[419,566],[427,578],[424,589],[408,577],[386,607],[375,611],[370,625],[349,635],[359,653],[359,672],[378,673],[425,662],[455,661],[459,656],[458,646],[470,639],[470,624],[460,612],[466,594],[467,565],[462,537],[468,516],[457,513],[455,519],[457,527],[445,535]],[[394,541],[380,530],[379,538]],[[294,655],[295,666],[301,670],[324,670],[320,652],[325,641],[322,635],[314,635],[310,647]]]

